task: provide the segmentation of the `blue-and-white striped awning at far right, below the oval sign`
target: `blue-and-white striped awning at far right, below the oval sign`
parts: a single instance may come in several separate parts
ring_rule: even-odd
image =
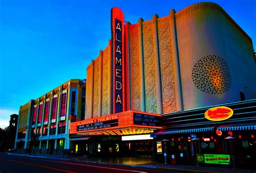
[[[255,130],[256,122],[244,122],[237,124],[226,124],[217,127],[219,131],[245,131],[245,130]]]

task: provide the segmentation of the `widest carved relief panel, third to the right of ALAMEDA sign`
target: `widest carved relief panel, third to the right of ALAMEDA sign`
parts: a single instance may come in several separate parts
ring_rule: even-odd
[[[174,71],[171,49],[169,17],[158,18],[158,40],[161,69],[163,113],[176,111]]]

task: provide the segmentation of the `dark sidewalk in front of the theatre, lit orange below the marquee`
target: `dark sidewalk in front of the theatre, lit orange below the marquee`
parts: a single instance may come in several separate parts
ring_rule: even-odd
[[[125,167],[135,167],[135,168],[148,168],[157,170],[170,170],[170,171],[180,171],[180,172],[241,172],[241,173],[255,173],[256,170],[250,169],[232,169],[232,168],[218,168],[218,167],[197,167],[193,165],[172,165],[163,163],[151,163],[150,157],[106,157],[106,158],[83,158],[83,157],[64,157],[62,155],[28,155],[28,154],[17,154],[17,153],[7,153],[9,155],[18,156],[28,156],[37,158],[52,158],[58,160],[68,160],[77,161],[84,163],[98,163],[98,164],[109,164],[118,165]]]

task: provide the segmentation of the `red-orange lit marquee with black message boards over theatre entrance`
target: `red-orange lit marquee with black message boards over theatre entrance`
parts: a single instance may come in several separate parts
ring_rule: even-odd
[[[129,135],[152,133],[153,129],[161,128],[159,127],[160,117],[159,114],[126,111],[110,116],[71,122],[70,134]]]

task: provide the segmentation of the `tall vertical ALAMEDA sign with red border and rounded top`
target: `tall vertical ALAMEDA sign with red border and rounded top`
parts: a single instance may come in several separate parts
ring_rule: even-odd
[[[119,113],[125,111],[124,14],[114,7],[111,16],[113,113]]]

